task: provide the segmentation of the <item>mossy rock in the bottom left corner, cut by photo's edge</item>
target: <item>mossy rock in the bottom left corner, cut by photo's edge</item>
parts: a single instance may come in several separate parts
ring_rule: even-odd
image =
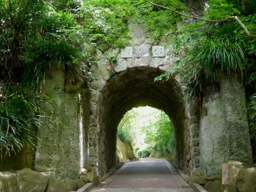
[[[14,173],[0,172],[0,191],[19,192],[19,184]]]

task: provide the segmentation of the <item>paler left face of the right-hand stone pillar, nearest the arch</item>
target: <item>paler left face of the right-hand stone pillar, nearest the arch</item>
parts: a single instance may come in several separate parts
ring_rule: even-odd
[[[221,174],[221,163],[227,159],[227,136],[223,104],[215,86],[207,88],[200,120],[200,157],[209,175]]]

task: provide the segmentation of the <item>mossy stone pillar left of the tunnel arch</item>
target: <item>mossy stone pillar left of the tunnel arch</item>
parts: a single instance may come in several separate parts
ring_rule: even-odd
[[[42,102],[45,117],[38,129],[35,170],[76,179],[81,170],[79,95],[74,90],[65,92],[65,76],[58,69],[45,77],[42,94],[47,98]]]

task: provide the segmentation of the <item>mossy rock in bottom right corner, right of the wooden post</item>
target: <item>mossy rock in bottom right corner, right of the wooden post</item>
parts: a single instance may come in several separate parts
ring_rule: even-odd
[[[239,192],[256,191],[256,168],[241,169],[239,171],[237,189]]]

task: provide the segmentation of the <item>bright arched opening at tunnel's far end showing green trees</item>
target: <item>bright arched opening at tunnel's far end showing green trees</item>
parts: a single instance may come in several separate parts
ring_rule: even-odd
[[[166,158],[175,163],[172,121],[163,111],[149,106],[132,108],[118,125],[118,162],[136,158]]]

